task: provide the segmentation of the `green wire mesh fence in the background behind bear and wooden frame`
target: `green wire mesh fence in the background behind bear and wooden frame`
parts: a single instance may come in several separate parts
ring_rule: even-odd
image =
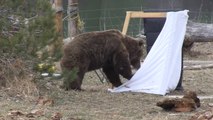
[[[64,2],[65,14],[66,6]],[[188,9],[190,20],[213,23],[212,6],[212,0],[79,0],[79,13],[84,32],[88,32],[122,30],[126,11],[168,12]],[[142,30],[143,19],[131,19],[127,34],[136,36]],[[64,20],[64,37],[67,37],[67,20]]]

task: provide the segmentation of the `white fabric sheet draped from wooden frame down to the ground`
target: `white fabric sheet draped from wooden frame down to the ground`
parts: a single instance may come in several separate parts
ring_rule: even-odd
[[[111,92],[145,92],[165,95],[174,90],[181,74],[181,52],[188,10],[168,12],[156,42],[135,75]]]

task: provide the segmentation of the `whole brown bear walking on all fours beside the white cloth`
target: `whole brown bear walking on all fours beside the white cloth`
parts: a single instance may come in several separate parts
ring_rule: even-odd
[[[119,75],[130,79],[133,75],[131,65],[140,68],[143,44],[143,40],[123,35],[118,30],[76,36],[64,47],[61,59],[63,73],[69,74],[76,68],[76,76],[65,75],[63,87],[66,90],[80,90],[84,74],[99,68],[102,68],[113,86],[120,86]]]

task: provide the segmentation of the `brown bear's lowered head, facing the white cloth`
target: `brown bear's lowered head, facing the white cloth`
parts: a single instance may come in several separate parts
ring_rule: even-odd
[[[144,40],[126,35],[123,39],[123,42],[129,52],[131,65],[133,68],[139,69],[141,65],[141,57],[143,55],[142,47],[144,46]]]

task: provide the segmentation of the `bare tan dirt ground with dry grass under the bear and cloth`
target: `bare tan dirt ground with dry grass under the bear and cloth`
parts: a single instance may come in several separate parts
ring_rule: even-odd
[[[184,53],[184,61],[213,61],[212,46],[213,43],[195,43],[190,53]],[[23,92],[9,94],[10,88],[0,90],[0,120],[188,120],[213,106],[213,69],[183,71],[184,90],[195,91],[201,99],[200,108],[186,113],[164,111],[156,106],[158,101],[183,92],[174,91],[166,96],[110,93],[110,85],[100,82],[95,72],[86,74],[81,92],[60,89],[60,79],[39,79],[36,83],[33,96],[23,96]]]

